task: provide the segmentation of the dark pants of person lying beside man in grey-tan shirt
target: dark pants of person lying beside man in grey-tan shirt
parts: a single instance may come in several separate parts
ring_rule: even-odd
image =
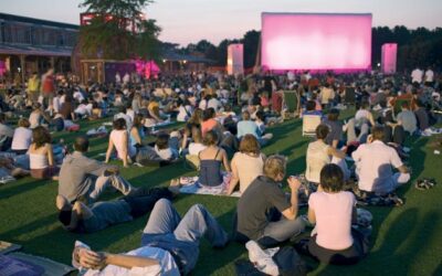
[[[148,189],[141,187],[130,195],[123,197],[130,206],[130,215],[134,217],[141,216],[154,209],[155,203],[159,199],[172,199],[172,193],[167,188]]]

